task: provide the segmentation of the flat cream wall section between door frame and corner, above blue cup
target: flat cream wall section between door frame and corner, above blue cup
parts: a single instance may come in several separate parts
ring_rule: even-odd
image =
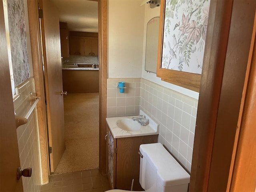
[[[141,77],[145,15],[141,2],[108,1],[108,78]]]

